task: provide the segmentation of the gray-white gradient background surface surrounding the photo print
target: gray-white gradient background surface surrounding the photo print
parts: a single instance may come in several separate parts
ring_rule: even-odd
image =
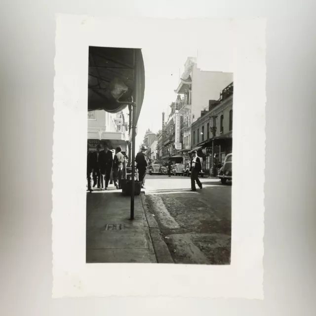
[[[268,17],[264,301],[51,299],[55,13]],[[306,0],[2,1],[0,315],[315,315],[314,14]]]

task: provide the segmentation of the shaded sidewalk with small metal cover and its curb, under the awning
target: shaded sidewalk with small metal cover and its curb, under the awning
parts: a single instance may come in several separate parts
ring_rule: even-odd
[[[173,263],[156,220],[147,220],[144,190],[135,196],[134,220],[130,197],[113,185],[87,193],[86,201],[87,263]]]

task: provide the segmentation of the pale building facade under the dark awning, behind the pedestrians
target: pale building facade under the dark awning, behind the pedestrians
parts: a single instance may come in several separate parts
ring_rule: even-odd
[[[90,151],[95,151],[96,146],[106,141],[110,149],[118,146],[122,151],[127,150],[128,123],[125,121],[126,110],[116,114],[106,111],[88,112],[88,146]]]

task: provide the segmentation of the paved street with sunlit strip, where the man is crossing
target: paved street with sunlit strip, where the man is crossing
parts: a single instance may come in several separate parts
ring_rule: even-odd
[[[175,263],[229,264],[231,184],[200,178],[190,191],[189,177],[146,176],[147,217],[153,216]]]

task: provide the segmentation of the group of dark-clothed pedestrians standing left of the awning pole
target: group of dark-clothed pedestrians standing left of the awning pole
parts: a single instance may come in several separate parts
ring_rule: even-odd
[[[113,152],[109,149],[107,143],[101,146],[97,145],[96,152],[90,152],[87,148],[87,189],[93,192],[94,187],[101,190],[107,190],[110,182],[111,171],[113,170],[113,181],[117,189],[121,188],[121,178],[123,168],[127,163],[127,156],[121,153],[121,148],[116,149],[116,154],[113,158]],[[93,181],[93,185],[92,185]]]

